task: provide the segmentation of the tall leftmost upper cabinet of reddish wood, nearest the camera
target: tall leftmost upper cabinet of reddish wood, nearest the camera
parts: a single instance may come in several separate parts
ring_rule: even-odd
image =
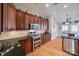
[[[16,30],[16,9],[13,4],[3,3],[3,31]]]

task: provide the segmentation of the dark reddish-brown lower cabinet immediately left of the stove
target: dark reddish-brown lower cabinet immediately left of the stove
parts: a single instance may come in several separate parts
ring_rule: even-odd
[[[23,39],[19,41],[22,48],[25,50],[26,54],[30,53],[33,51],[33,44],[32,44],[32,39]]]

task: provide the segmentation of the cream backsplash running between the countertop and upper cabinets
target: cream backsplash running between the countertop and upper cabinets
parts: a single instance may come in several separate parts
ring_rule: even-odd
[[[11,38],[17,38],[17,37],[23,37],[28,36],[28,32],[35,31],[35,30],[24,30],[24,31],[8,31],[8,32],[2,32],[0,35],[0,40],[7,40]],[[42,34],[45,32],[45,30],[37,30],[35,31],[37,34]]]

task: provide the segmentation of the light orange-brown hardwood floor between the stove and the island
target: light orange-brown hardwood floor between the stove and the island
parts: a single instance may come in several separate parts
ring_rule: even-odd
[[[28,54],[27,56],[71,56],[70,54],[62,51],[62,39],[56,38],[51,40],[36,51]]]

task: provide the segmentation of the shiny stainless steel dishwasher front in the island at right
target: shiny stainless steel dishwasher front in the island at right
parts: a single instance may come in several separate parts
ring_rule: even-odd
[[[78,55],[77,41],[73,39],[63,39],[63,50],[74,55]]]

